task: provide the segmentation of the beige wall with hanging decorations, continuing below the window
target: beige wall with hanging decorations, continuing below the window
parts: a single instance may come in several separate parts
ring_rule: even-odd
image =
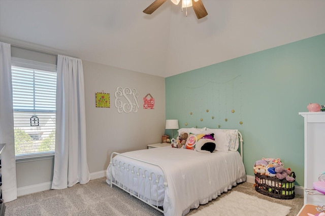
[[[112,152],[146,149],[165,133],[165,78],[83,61],[87,161],[90,173],[101,172]],[[137,113],[118,113],[114,105],[117,87],[135,88],[139,93]],[[95,107],[95,93],[110,93],[110,108]],[[155,109],[143,109],[143,97],[155,98]],[[29,159],[16,164],[17,187],[35,187],[52,181],[53,157]],[[48,186],[46,186],[48,187]]]

